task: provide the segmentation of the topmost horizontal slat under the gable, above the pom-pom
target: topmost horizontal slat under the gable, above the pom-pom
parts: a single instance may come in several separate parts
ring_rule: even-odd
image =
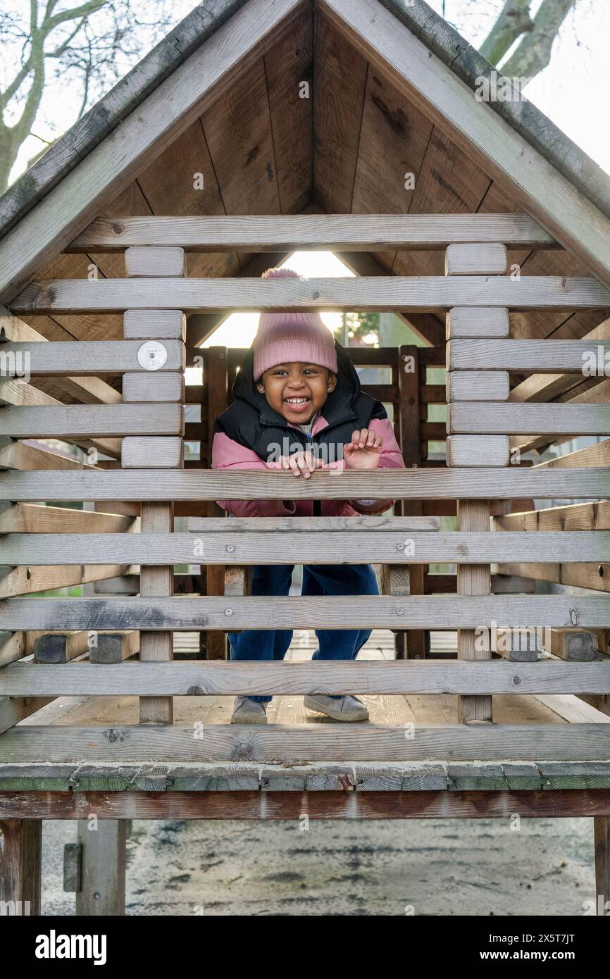
[[[246,214],[207,217],[99,217],[65,252],[118,252],[175,245],[195,252],[443,249],[453,242],[557,248],[529,214]]]

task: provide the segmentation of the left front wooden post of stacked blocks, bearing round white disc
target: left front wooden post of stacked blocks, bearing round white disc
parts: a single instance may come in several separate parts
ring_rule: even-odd
[[[186,274],[183,249],[180,248],[128,248],[125,250],[125,270],[131,276],[174,276]],[[181,341],[184,351],[186,317],[179,309],[127,310],[123,320],[125,340],[141,340],[138,353],[140,362],[150,363],[150,374],[133,376],[125,374],[123,386],[130,399],[158,401],[159,379],[156,371],[163,366],[164,342]],[[184,364],[183,353],[183,364]],[[164,400],[167,403],[184,404],[184,371],[165,373]],[[169,378],[169,380],[167,380]],[[181,469],[184,467],[184,410],[180,430],[175,436],[151,438],[126,438],[122,441],[121,465],[123,468]],[[142,534],[164,534],[173,531],[173,501],[142,502],[140,531]],[[173,568],[171,566],[142,566],[140,569],[140,594],[162,598],[173,594]],[[169,630],[146,631],[140,634],[140,660],[163,661],[173,656],[173,633]],[[140,723],[172,723],[171,697],[140,697]]]

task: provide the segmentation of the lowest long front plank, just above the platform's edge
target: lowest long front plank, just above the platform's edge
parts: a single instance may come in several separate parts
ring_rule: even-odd
[[[247,739],[245,738],[247,730]],[[49,763],[109,761],[605,761],[610,724],[446,724],[404,727],[376,724],[121,724],[106,727],[26,725],[0,737],[0,759],[23,763],[44,752]],[[41,746],[44,746],[42,749]]]

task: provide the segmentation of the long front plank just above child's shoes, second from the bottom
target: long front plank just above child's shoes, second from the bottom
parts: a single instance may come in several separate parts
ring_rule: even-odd
[[[86,636],[87,633],[76,633]],[[128,633],[134,635],[135,633]],[[45,637],[40,637],[40,642]],[[56,639],[59,637],[55,637]],[[610,663],[513,664],[417,660],[353,663],[14,663],[0,671],[0,695],[233,696],[274,694],[610,693]]]

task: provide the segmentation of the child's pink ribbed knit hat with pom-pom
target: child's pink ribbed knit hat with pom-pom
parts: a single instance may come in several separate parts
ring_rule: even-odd
[[[291,268],[267,268],[262,279],[298,279]],[[262,312],[254,339],[255,381],[276,364],[300,360],[337,373],[333,335],[317,312]]]

